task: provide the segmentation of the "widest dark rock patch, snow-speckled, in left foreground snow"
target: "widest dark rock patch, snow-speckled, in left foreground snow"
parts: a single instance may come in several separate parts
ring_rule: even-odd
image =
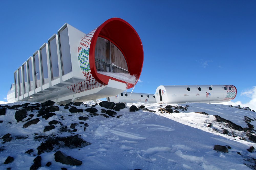
[[[80,137],[80,135],[74,135],[68,137],[49,138],[45,142],[41,143],[39,147],[37,147],[38,155],[44,153],[45,151],[50,152],[54,149],[54,147],[83,148],[91,144]]]

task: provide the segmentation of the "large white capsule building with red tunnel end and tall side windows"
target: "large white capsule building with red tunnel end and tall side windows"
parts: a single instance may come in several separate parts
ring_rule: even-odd
[[[66,23],[14,71],[7,100],[68,103],[113,96],[135,86],[143,57],[140,37],[120,18],[88,34]]]

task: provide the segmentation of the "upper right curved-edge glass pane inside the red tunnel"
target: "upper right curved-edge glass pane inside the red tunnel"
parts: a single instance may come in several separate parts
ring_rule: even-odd
[[[111,43],[111,64],[128,71],[123,53],[113,43]]]

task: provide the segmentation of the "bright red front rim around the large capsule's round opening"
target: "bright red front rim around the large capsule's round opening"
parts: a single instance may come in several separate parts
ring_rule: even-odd
[[[123,82],[123,83],[126,83],[127,84],[127,87],[128,88],[132,88],[133,86],[135,86],[135,84],[138,82],[138,79],[141,75],[141,72],[142,72],[142,67],[141,67],[141,70],[140,70],[140,73],[137,75],[138,78],[136,80],[136,82],[134,84],[130,84],[130,83],[127,83],[123,80],[119,80],[119,79],[116,79],[116,78],[113,78],[113,77],[110,77],[110,76],[106,76],[106,75],[102,75],[102,74],[99,74],[96,70],[96,66],[95,66],[95,45],[96,45],[96,42],[97,42],[97,38],[99,37],[99,34],[101,32],[101,30],[104,28],[104,26],[106,24],[108,24],[109,22],[111,21],[122,21],[123,23],[125,23],[128,27],[130,27],[134,33],[136,34],[136,36],[138,37],[138,40],[140,41],[140,44],[141,44],[141,50],[142,50],[142,66],[143,66],[143,60],[144,60],[144,51],[143,51],[143,46],[142,46],[142,42],[141,42],[141,39],[138,35],[138,33],[136,32],[136,30],[128,23],[126,22],[125,20],[121,19],[121,18],[110,18],[108,20],[106,20],[105,22],[103,22],[97,29],[96,31],[94,32],[94,35],[92,37],[92,40],[91,40],[91,45],[90,45],[90,48],[92,48],[89,52],[89,62],[90,62],[90,68],[91,68],[91,73],[92,73],[92,76],[101,84],[103,85],[106,85],[108,84],[108,80],[109,79],[112,79],[112,80],[115,80],[115,81],[119,81],[119,82]],[[100,79],[99,78],[99,75],[100,77],[105,77],[104,80]]]

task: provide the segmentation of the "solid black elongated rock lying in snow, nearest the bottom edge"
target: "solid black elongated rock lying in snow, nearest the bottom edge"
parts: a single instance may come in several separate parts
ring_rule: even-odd
[[[61,151],[57,151],[54,154],[54,159],[56,162],[60,162],[66,165],[82,165],[82,161],[72,158],[71,156],[64,155]]]

